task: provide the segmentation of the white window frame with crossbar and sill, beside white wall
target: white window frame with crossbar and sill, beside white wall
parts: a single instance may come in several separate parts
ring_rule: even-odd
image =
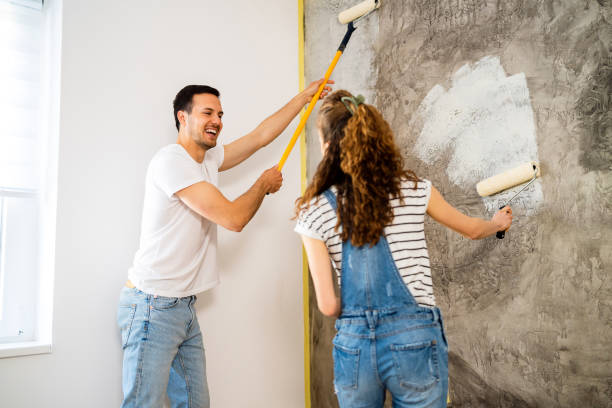
[[[0,0],[1,1],[1,0]],[[40,262],[37,285],[38,308],[32,340],[0,343],[0,358],[50,353],[52,350],[53,281],[55,272],[55,227],[57,208],[57,158],[59,151],[60,61],[62,0],[4,0],[43,13],[41,77],[41,156],[44,169],[41,188],[36,191],[5,190],[11,197],[38,196],[40,200]]]

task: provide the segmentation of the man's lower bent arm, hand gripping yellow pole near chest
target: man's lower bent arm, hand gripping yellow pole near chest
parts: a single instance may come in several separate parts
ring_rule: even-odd
[[[253,218],[267,193],[275,193],[283,176],[274,166],[266,171],[244,194],[230,201],[214,185],[201,181],[175,194],[202,217],[231,231],[240,232]]]

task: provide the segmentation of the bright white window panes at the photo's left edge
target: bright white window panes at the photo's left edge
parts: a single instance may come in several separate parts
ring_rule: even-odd
[[[0,0],[0,343],[36,337],[42,32],[42,2]]]

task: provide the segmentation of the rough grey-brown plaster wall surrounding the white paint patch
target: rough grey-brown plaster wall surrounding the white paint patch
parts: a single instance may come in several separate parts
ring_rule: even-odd
[[[306,2],[308,79],[324,72],[343,32],[337,12],[353,4]],[[354,33],[336,88],[373,100],[407,166],[460,210],[492,215],[474,184],[449,174],[454,156],[462,163],[456,145],[445,145],[434,161],[418,154],[425,121],[415,118],[427,95],[451,89],[466,64],[493,57],[508,77],[524,76],[533,111],[541,193],[536,186],[525,197],[537,199],[513,205],[506,239],[473,242],[426,225],[450,342],[453,406],[612,406],[610,0],[383,0],[372,17]],[[309,174],[320,159],[313,125]],[[486,135],[476,136],[462,149],[480,149]],[[527,136],[516,138],[526,143]],[[312,405],[337,406],[333,322],[314,308],[311,322]]]

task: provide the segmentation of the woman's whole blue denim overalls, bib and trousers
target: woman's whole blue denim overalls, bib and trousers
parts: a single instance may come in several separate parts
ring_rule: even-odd
[[[325,197],[336,210],[336,197]],[[334,387],[341,408],[446,407],[448,345],[438,308],[422,307],[403,282],[387,239],[342,244],[342,312],[334,337]]]

